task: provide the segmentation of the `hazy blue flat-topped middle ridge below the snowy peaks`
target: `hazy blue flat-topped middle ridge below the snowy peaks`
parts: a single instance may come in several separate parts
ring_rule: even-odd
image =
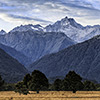
[[[64,33],[33,30],[21,32],[14,31],[2,35],[0,36],[0,43],[14,48],[24,54],[27,58],[31,59],[30,61],[26,61],[24,65],[28,65],[46,54],[58,52],[59,50],[75,44],[75,42],[68,38]],[[16,56],[14,58],[16,58]],[[23,64],[24,58],[22,58],[21,61],[20,59],[18,60]]]

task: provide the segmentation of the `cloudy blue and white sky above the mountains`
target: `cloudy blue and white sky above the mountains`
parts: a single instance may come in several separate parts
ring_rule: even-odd
[[[0,0],[0,30],[21,24],[52,24],[65,16],[80,24],[100,24],[100,0]]]

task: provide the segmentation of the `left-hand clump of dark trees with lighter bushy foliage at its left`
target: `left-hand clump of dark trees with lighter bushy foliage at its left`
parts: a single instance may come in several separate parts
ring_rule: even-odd
[[[32,74],[27,74],[22,82],[18,82],[16,84],[16,92],[27,94],[29,91],[37,91],[39,93],[40,90],[48,90],[49,82],[46,76],[38,71],[34,70]]]

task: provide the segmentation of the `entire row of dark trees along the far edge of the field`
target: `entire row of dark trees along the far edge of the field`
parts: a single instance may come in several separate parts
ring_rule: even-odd
[[[94,84],[91,81],[82,81],[80,75],[74,71],[70,71],[66,77],[56,79],[52,84],[48,82],[47,77],[40,71],[34,70],[32,74],[25,75],[21,82],[16,84],[4,83],[0,76],[0,90],[14,90],[20,94],[28,94],[29,91],[36,91],[39,93],[42,91],[73,91],[75,93],[78,90],[92,91],[100,90],[100,84]]]

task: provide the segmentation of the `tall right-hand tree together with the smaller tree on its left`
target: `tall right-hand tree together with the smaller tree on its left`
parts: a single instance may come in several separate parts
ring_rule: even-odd
[[[70,71],[64,80],[56,79],[53,85],[54,90],[73,91],[74,93],[84,88],[82,78],[74,71]]]

